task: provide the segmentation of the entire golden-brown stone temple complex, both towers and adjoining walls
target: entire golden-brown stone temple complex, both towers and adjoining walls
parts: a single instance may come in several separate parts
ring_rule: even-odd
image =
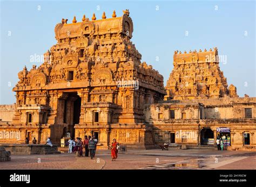
[[[41,66],[18,73],[16,103],[0,106],[0,143],[95,135],[103,149],[113,138],[127,148],[209,148],[223,138],[226,149],[255,150],[256,98],[228,87],[218,49],[174,52],[164,88],[163,76],[140,62],[123,12],[56,25],[57,44]]]

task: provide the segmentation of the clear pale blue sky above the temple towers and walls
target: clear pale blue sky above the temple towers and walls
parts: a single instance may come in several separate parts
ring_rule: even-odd
[[[1,1],[0,104],[16,102],[12,88],[17,73],[24,65],[30,70],[31,55],[43,55],[56,44],[54,28],[62,18],[71,23],[73,16],[80,21],[95,12],[99,19],[103,11],[111,17],[113,10],[121,16],[125,9],[133,20],[132,41],[142,61],[164,76],[165,85],[175,50],[218,47],[219,55],[227,56],[220,68],[228,85],[234,84],[240,97],[256,96],[254,1]]]

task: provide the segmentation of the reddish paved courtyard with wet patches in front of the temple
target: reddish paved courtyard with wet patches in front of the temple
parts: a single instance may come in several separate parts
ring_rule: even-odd
[[[128,150],[111,160],[110,150],[97,150],[96,157],[11,155],[0,169],[256,169],[256,152],[218,150]]]

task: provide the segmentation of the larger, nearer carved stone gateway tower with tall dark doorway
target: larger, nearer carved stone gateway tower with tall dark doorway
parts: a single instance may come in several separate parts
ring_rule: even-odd
[[[134,147],[152,145],[143,105],[164,98],[163,76],[140,62],[129,14],[106,18],[104,12],[100,20],[93,14],[91,20],[74,17],[56,25],[57,44],[41,66],[19,72],[13,89],[12,123],[21,125],[25,136],[31,132],[41,141],[51,136],[59,142],[67,134],[96,135],[104,148],[113,138]]]

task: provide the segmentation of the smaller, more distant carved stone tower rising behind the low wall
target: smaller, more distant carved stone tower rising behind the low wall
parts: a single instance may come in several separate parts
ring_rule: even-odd
[[[219,68],[217,48],[183,54],[175,51],[173,66],[165,87],[165,100],[238,97],[237,88],[233,84],[228,87],[227,79]]]

